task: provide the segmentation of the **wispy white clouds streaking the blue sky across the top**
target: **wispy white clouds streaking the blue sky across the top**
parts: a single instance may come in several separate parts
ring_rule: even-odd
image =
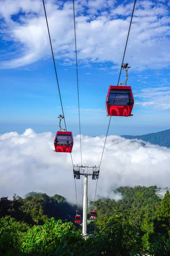
[[[168,67],[170,14],[167,3],[136,3],[126,59],[134,68]],[[111,62],[120,65],[133,2],[76,0],[79,64]],[[55,58],[61,64],[75,61],[72,1],[46,1]],[[13,58],[1,53],[1,68],[16,68],[51,56],[44,10],[40,0],[1,0],[2,39],[13,45]],[[8,51],[8,49],[7,49]],[[119,54],[118,54],[119,52]]]

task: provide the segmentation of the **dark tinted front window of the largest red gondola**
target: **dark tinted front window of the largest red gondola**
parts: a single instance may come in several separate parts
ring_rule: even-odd
[[[108,96],[108,105],[126,106],[132,105],[130,90],[111,90]]]

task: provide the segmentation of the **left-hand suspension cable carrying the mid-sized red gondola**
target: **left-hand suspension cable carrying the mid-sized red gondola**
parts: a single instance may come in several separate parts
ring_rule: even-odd
[[[56,74],[56,79],[57,79],[57,86],[58,86],[58,91],[59,91],[59,98],[60,98],[61,107],[62,107],[62,99],[61,99],[61,94],[60,94],[60,90],[59,90],[59,81],[58,81],[58,76],[57,76],[56,64],[55,64],[55,60],[54,60],[53,47],[52,47],[52,44],[51,44],[51,36],[50,36],[49,27],[48,27],[48,20],[47,20],[47,15],[46,15],[46,10],[45,10],[45,3],[44,3],[44,0],[42,0],[42,3],[43,3],[43,6],[44,6],[45,19],[46,19],[46,24],[47,24],[47,29],[48,29],[48,36],[49,36],[49,40],[50,40],[51,52],[52,52],[52,56],[53,56],[54,69],[55,69],[55,74]],[[62,107],[62,115],[64,116],[63,107]],[[64,123],[65,123],[65,118],[64,118]],[[65,123],[65,130],[67,131],[66,123]],[[70,153],[70,155],[71,155],[71,153]],[[73,165],[73,168],[74,168],[72,155],[71,155],[71,162],[72,162],[72,165]],[[75,183],[75,184],[76,184],[76,183]],[[75,185],[75,186],[76,186],[76,185]],[[75,188],[75,190],[76,190],[76,188]],[[77,198],[77,190],[76,190],[76,198]]]

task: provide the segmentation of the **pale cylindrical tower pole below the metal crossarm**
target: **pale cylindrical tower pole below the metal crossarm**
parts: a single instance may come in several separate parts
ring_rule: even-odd
[[[83,198],[83,219],[82,219],[82,234],[87,233],[87,213],[88,213],[88,175],[85,175],[84,198]]]

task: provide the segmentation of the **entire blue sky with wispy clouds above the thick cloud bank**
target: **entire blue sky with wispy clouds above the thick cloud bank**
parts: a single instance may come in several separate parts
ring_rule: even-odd
[[[0,0],[0,133],[58,130],[62,113],[42,1]],[[46,1],[68,131],[79,133],[72,1]],[[77,0],[82,134],[106,134],[105,98],[117,84],[131,1]],[[170,128],[170,1],[137,1],[125,62],[133,117],[112,117],[109,134]],[[125,80],[122,71],[120,81]]]

